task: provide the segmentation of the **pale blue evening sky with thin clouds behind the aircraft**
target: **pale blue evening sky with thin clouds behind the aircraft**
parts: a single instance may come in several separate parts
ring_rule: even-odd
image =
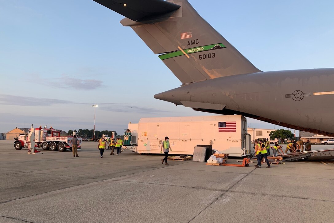
[[[262,71],[334,67],[332,0],[189,2]],[[92,0],[0,0],[0,132],[93,129],[94,104],[96,130],[118,133],[144,117],[211,115],[153,97],[181,82],[123,18]]]

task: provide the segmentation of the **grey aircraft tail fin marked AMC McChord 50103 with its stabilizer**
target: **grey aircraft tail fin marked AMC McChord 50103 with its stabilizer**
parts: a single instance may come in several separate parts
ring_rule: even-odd
[[[182,84],[260,72],[228,43],[187,0],[94,0],[124,16]],[[140,2],[140,4],[138,3]]]

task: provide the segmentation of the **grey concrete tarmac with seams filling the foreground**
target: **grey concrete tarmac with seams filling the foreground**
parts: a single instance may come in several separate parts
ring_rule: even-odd
[[[334,162],[207,166],[96,142],[28,155],[0,141],[0,222],[333,222]],[[315,147],[312,145],[312,148]],[[327,146],[330,148],[333,146]],[[314,148],[315,149],[315,148]],[[116,153],[116,151],[115,151]],[[235,159],[228,159],[235,163]],[[263,164],[263,167],[266,167]]]

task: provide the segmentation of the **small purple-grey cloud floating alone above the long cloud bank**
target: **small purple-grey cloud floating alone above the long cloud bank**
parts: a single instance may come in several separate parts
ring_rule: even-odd
[[[96,79],[80,79],[75,77],[69,77],[62,74],[61,77],[50,79],[42,78],[38,74],[31,75],[34,79],[38,79],[39,83],[46,83],[47,85],[52,85],[58,88],[69,88],[77,90],[94,90],[103,86],[103,81]],[[28,80],[31,82],[31,80]]]

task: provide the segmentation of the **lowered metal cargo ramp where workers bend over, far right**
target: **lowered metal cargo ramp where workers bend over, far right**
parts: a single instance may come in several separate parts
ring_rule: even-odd
[[[325,159],[334,159],[334,149],[321,149],[314,151],[305,151],[297,153],[288,153],[282,155],[284,161],[296,161],[300,159],[305,160],[325,160]]]

